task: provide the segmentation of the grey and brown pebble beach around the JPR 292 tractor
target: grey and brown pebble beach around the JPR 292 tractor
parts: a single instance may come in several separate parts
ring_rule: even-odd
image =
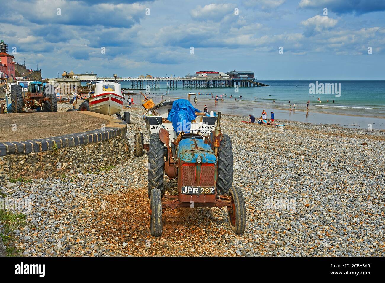
[[[69,104],[59,104],[66,111]],[[149,142],[139,106],[127,138]],[[123,111],[122,111],[123,113]],[[122,115],[121,113],[121,115]],[[123,115],[122,115],[123,116]],[[385,132],[222,115],[231,137],[234,185],[247,222],[234,234],[227,211],[166,210],[163,235],[149,232],[147,154],[119,166],[29,182],[3,194],[30,199],[12,231],[20,256],[384,256]],[[165,179],[175,193],[175,180]]]

